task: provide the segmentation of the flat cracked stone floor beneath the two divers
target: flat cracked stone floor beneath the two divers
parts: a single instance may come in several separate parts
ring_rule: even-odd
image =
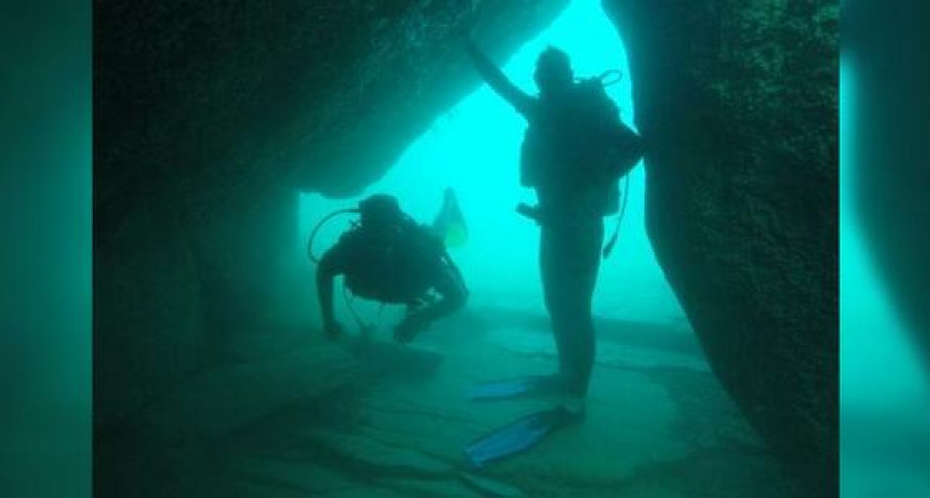
[[[471,468],[463,455],[468,442],[551,403],[465,397],[477,376],[555,364],[487,342],[492,336],[450,350],[435,375],[380,377],[349,398],[294,405],[211,446],[220,447],[219,461],[232,460],[230,477],[282,498],[300,489],[313,496],[684,497],[689,489],[721,498],[795,496],[773,484],[772,460],[714,377],[673,364],[600,365],[582,424],[509,460]],[[339,417],[307,416],[327,407]],[[217,457],[204,460],[216,465]]]

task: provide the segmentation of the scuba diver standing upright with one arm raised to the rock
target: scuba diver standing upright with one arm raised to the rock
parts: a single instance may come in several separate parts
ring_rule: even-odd
[[[555,395],[556,408],[531,414],[466,448],[476,466],[527,449],[583,416],[595,363],[591,299],[602,249],[603,217],[619,210],[619,180],[643,155],[640,137],[620,120],[603,90],[603,77],[576,81],[569,56],[544,51],[531,96],[514,85],[475,43],[467,52],[487,84],[526,118],[520,183],[536,190],[538,206],[518,211],[540,226],[539,264],[559,371],[473,387],[473,400]],[[606,73],[607,75],[608,73]],[[624,196],[626,199],[626,196]]]

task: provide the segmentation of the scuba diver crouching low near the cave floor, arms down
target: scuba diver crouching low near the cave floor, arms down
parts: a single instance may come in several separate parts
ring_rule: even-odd
[[[343,234],[319,260],[312,243],[319,228],[332,217],[358,212],[360,221]],[[433,321],[458,310],[468,292],[462,273],[432,228],[404,214],[397,199],[374,195],[358,209],[330,214],[310,236],[310,259],[318,262],[317,291],[327,336],[335,339],[342,326],[333,313],[333,280],[353,294],[389,304],[405,304],[406,315],[394,328],[394,340],[410,342]]]

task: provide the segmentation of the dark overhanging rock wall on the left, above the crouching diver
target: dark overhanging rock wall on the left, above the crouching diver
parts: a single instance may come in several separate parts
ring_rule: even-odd
[[[272,333],[298,190],[378,178],[477,84],[467,29],[502,55],[566,3],[96,1],[97,427]]]

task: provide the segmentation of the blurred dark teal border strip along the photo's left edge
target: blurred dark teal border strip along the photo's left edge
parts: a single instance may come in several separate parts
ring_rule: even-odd
[[[89,497],[91,4],[0,10],[0,494]]]

